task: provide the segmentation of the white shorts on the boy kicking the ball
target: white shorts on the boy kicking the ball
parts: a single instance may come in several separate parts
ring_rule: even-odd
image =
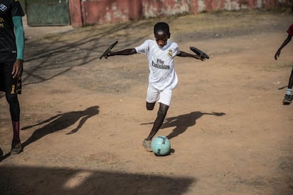
[[[164,105],[170,105],[172,98],[173,88],[165,88],[164,90],[157,90],[153,86],[149,85],[146,93],[146,102],[154,103],[156,100]]]

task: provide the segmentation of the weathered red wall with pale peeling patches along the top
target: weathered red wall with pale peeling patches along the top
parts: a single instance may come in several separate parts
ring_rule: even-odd
[[[292,0],[69,0],[71,25],[115,23],[203,11],[291,5]]]

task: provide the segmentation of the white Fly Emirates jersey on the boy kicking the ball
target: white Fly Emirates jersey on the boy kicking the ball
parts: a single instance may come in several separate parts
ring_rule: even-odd
[[[176,87],[178,77],[174,69],[174,57],[179,52],[176,42],[168,41],[164,47],[159,47],[155,40],[146,40],[135,49],[137,53],[147,55],[150,85],[158,90]]]

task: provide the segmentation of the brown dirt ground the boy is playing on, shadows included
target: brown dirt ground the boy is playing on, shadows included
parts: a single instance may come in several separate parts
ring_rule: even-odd
[[[178,87],[157,135],[173,154],[142,148],[156,117],[145,108],[146,56],[98,59],[140,45],[154,23],[180,50]],[[293,43],[274,54],[290,10],[200,13],[84,28],[25,25],[23,153],[10,155],[0,93],[0,194],[293,194],[293,107],[282,105]],[[115,50],[114,49],[114,50]]]

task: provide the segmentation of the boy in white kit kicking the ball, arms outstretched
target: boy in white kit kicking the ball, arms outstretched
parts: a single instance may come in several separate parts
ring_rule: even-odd
[[[163,124],[171,102],[173,88],[176,88],[178,83],[174,69],[174,57],[193,57],[205,60],[195,54],[180,51],[176,42],[168,40],[170,36],[167,23],[156,23],[154,25],[155,40],[146,40],[138,47],[107,54],[107,57],[137,53],[146,54],[147,56],[149,61],[149,86],[146,93],[146,110],[154,110],[156,101],[159,102],[159,111],[154,125],[149,136],[142,142],[142,146],[148,151],[151,151],[151,138],[154,137]]]

